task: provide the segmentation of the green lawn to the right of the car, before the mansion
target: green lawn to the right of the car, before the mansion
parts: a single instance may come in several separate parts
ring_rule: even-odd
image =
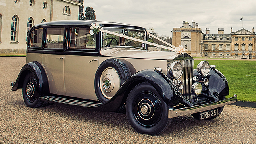
[[[194,61],[194,68],[201,60]],[[238,95],[239,101],[256,102],[256,61],[207,60],[216,65],[228,80],[230,95]]]

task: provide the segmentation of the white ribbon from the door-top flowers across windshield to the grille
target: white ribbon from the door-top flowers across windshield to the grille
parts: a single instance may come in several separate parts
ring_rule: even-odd
[[[128,36],[126,36],[126,35],[123,35],[123,34],[118,34],[118,33],[115,33],[115,32],[111,32],[111,31],[108,31],[108,30],[104,30],[104,29],[100,29],[100,31],[102,31],[102,32],[106,32],[106,33],[109,33],[109,34],[113,34],[113,35],[115,35],[115,36],[118,36],[118,37],[123,37],[123,38],[126,38],[126,39],[131,39],[131,40],[133,40],[133,41],[138,41],[138,42],[140,42],[140,43],[146,43],[146,44],[148,44],[148,45],[153,45],[153,46],[155,46],[155,47],[161,47],[161,48],[163,48],[163,49],[168,49],[168,50],[171,50],[171,51],[177,51],[176,49],[177,49],[177,47],[175,47],[174,45],[171,45],[171,44],[167,44],[167,45],[171,45],[171,47],[174,47],[174,48],[171,48],[171,47],[166,47],[166,46],[163,46],[163,45],[158,45],[158,44],[156,44],[156,43],[151,43],[151,42],[148,42],[148,41],[144,41],[144,40],[140,40],[140,39],[136,39],[136,38],[133,38],[133,37],[128,37]],[[149,32],[148,32],[149,33]],[[163,40],[162,40],[163,41]],[[166,42],[167,43],[167,42]]]

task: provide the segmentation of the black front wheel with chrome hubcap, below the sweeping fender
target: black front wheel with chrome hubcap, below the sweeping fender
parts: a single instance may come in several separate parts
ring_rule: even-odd
[[[136,85],[126,101],[128,120],[142,134],[156,135],[168,128],[172,120],[168,118],[168,109],[169,105],[149,82]]]

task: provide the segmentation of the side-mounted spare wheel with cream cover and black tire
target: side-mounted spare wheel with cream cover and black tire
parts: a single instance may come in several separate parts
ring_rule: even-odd
[[[120,59],[107,59],[97,69],[94,88],[101,103],[106,103],[131,76],[130,69]]]

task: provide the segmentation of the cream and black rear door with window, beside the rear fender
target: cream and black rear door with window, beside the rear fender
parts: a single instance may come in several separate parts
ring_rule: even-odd
[[[45,67],[50,93],[65,95],[64,87],[64,39],[65,27],[45,29],[42,63]]]

